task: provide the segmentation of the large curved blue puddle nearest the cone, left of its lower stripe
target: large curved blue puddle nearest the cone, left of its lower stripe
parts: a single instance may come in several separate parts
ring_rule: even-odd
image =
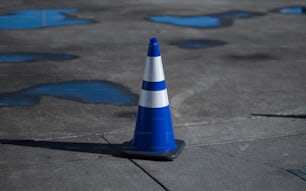
[[[30,106],[41,96],[52,96],[88,104],[136,105],[137,95],[107,81],[81,81],[44,84],[17,92],[0,94],[0,107]]]

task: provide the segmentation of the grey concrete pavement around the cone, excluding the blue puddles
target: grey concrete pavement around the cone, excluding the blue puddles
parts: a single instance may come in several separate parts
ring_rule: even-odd
[[[156,36],[175,135],[187,146],[173,162],[114,157],[110,146],[133,136],[137,104],[40,96],[31,106],[0,107],[0,190],[306,190],[306,181],[287,171],[306,167],[306,15],[272,11],[296,5],[306,3],[1,2],[1,15],[76,8],[71,18],[95,23],[0,30],[0,53],[78,56],[0,63],[0,97],[40,84],[96,80],[119,84],[137,96],[148,39]],[[150,15],[228,11],[262,15],[210,29],[148,20]],[[176,45],[185,40],[223,45]]]

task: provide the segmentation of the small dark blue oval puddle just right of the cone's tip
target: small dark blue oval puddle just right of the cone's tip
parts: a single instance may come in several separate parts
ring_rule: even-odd
[[[172,44],[178,46],[179,48],[200,49],[200,48],[223,46],[226,43],[219,40],[185,40],[185,41],[178,41]]]

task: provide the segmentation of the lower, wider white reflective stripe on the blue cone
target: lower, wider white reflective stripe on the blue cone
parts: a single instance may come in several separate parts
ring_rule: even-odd
[[[141,90],[139,105],[148,108],[161,108],[169,105],[167,89],[160,91]]]

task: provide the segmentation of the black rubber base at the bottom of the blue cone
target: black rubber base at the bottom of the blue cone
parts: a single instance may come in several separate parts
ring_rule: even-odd
[[[175,159],[183,150],[185,142],[183,140],[176,139],[176,149],[165,152],[165,153],[153,153],[137,151],[131,147],[131,141],[123,143],[120,149],[120,156],[133,159],[145,159],[145,160],[158,160],[158,161],[172,161]]]

